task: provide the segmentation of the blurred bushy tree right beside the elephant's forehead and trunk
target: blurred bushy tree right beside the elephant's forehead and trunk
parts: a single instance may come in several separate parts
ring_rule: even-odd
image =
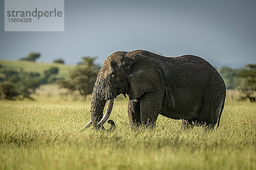
[[[94,63],[96,57],[82,57],[82,62],[70,73],[69,79],[59,81],[60,88],[67,88],[70,91],[79,91],[81,96],[91,94],[99,72],[99,65]]]

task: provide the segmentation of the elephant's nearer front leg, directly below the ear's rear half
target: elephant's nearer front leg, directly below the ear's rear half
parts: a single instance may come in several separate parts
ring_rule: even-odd
[[[140,98],[140,117],[142,125],[155,127],[162,106],[163,96],[158,91],[145,93]]]

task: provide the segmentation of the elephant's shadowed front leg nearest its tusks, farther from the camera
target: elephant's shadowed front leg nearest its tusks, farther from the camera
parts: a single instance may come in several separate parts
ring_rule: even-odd
[[[128,100],[128,117],[131,128],[141,125],[140,99]]]

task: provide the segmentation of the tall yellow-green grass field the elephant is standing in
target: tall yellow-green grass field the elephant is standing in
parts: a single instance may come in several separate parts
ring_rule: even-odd
[[[255,170],[256,103],[228,91],[220,127],[180,131],[181,121],[159,116],[153,130],[131,131],[127,99],[115,100],[114,132],[80,128],[90,99],[41,86],[36,100],[0,101],[0,169]],[[109,128],[108,125],[105,125]]]

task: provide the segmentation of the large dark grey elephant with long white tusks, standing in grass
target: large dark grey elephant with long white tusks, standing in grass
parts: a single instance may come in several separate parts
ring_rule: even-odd
[[[91,119],[83,128],[102,126],[119,94],[129,96],[128,117],[132,128],[154,127],[159,114],[182,119],[181,128],[194,125],[214,128],[219,125],[224,108],[226,85],[218,71],[197,56],[163,57],[144,50],[115,52],[98,73]]]

